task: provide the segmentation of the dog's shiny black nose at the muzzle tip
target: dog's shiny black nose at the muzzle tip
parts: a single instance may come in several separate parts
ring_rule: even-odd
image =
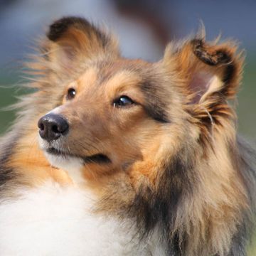
[[[59,114],[46,114],[38,120],[39,134],[48,142],[68,133],[68,122]]]

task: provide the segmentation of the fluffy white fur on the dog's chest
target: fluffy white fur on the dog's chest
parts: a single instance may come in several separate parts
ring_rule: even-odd
[[[155,242],[140,244],[132,223],[92,214],[90,193],[50,182],[19,192],[0,204],[1,256],[152,255]]]

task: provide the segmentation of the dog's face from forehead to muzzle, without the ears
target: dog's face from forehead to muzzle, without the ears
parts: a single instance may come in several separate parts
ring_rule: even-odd
[[[53,155],[75,157],[95,166],[96,175],[127,169],[158,151],[175,121],[169,106],[181,109],[161,72],[159,63],[142,60],[90,64],[66,85],[61,105],[38,122],[51,161]]]

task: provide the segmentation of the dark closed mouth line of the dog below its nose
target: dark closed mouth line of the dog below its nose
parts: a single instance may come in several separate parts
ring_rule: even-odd
[[[78,154],[72,154],[67,151],[61,151],[59,149],[55,149],[54,147],[50,147],[46,149],[46,152],[53,156],[59,156],[63,159],[68,159],[69,157],[75,157],[78,159],[82,159],[84,164],[97,163],[97,164],[110,164],[111,160],[105,154],[93,154],[91,156],[80,156]]]

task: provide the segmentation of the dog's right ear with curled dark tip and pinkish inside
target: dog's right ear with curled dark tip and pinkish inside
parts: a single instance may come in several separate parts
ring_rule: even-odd
[[[164,55],[164,65],[178,78],[186,105],[200,118],[218,119],[228,110],[227,100],[235,97],[240,84],[242,63],[235,43],[206,43],[204,38],[186,41],[181,47],[169,45]]]

